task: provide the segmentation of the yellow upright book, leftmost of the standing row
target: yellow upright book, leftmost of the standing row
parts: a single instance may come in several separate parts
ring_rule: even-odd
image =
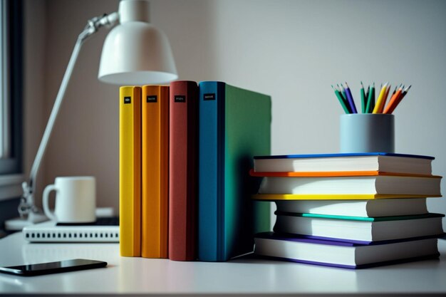
[[[141,88],[119,97],[120,255],[141,256]]]

